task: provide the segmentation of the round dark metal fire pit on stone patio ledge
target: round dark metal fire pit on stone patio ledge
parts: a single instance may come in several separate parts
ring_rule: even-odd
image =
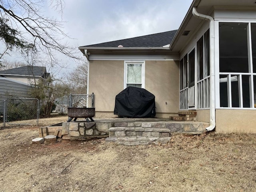
[[[95,108],[68,108],[68,122],[73,118],[76,121],[77,118],[85,118],[87,122],[94,121],[93,117],[95,116]],[[90,119],[90,120],[89,120]]]

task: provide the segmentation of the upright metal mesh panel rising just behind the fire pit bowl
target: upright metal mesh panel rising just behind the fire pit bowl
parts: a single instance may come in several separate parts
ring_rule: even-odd
[[[94,108],[94,94],[70,94],[69,107]]]

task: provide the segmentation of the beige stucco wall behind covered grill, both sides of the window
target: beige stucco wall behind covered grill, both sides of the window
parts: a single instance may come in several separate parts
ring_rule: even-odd
[[[145,89],[156,96],[156,116],[165,118],[176,114],[179,110],[179,62],[145,61],[145,74]],[[88,91],[95,94],[96,117],[116,117],[115,97],[123,88],[123,60],[90,61]]]

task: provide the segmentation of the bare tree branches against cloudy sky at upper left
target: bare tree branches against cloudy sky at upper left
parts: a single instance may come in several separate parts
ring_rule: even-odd
[[[63,43],[70,38],[63,30],[63,22],[44,15],[43,7],[48,0],[0,0],[0,41],[6,48],[0,58],[13,48],[20,51],[40,51],[48,56],[51,65],[59,65],[56,54],[62,53],[74,60],[77,48]],[[60,14],[63,0],[50,0],[52,8]]]

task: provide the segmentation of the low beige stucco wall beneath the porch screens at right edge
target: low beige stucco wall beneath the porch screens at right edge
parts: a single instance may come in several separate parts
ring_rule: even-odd
[[[217,133],[256,133],[256,110],[216,109]]]

